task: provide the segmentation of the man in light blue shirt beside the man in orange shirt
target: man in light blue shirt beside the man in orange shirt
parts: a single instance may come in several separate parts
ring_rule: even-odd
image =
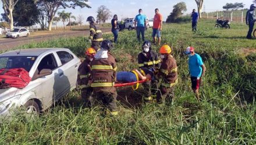
[[[135,17],[134,20],[134,28],[137,31],[137,39],[140,41],[140,33],[142,36],[142,40],[144,41],[144,35],[145,35],[145,23],[146,23],[146,16],[145,14],[142,14],[142,9],[138,10],[138,14]]]

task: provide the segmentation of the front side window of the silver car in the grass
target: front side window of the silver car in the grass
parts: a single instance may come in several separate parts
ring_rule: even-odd
[[[42,69],[50,69],[50,70],[54,70],[55,68],[57,68],[58,65],[56,63],[55,57],[54,55],[51,53],[47,56],[45,56],[39,63],[37,69],[38,69],[38,73],[40,73],[40,71]]]

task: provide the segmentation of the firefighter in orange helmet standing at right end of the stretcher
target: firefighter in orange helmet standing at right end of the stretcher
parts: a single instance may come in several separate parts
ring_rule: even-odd
[[[162,100],[170,102],[175,97],[175,85],[178,82],[177,64],[176,60],[170,53],[172,49],[168,45],[163,45],[159,52],[161,53],[161,67],[158,73],[158,78],[161,80],[160,88],[157,92],[157,102]]]

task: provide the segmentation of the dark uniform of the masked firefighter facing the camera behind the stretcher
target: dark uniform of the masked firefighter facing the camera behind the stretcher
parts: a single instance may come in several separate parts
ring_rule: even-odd
[[[159,57],[156,52],[151,50],[149,53],[141,52],[138,54],[138,66],[139,68],[148,68],[150,69],[151,67],[157,68],[156,70],[159,69],[161,66],[161,60],[159,60]],[[145,100],[152,100],[151,97],[151,92],[152,95],[155,96],[155,93],[157,92],[157,79],[153,79],[151,81],[147,81],[143,83],[143,86],[146,90],[146,96],[144,97]]]

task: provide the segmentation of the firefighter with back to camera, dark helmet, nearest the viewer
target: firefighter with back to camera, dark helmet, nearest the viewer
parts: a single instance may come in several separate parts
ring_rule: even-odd
[[[116,107],[116,61],[109,52],[113,44],[109,40],[102,41],[101,49],[98,50],[91,63],[92,82],[91,87],[97,96],[97,100],[110,110],[111,115],[118,115]],[[107,110],[106,110],[107,111]]]

